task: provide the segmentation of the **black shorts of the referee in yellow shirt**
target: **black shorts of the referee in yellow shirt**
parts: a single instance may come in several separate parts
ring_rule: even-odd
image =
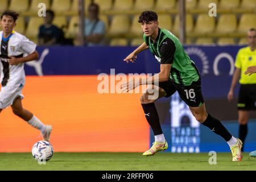
[[[256,84],[241,84],[237,109],[256,110]]]

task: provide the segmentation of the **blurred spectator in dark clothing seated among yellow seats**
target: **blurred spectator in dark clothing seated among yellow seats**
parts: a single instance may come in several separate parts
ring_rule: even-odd
[[[54,19],[54,12],[52,10],[46,11],[46,17],[44,18],[44,24],[39,27],[38,43],[39,46],[53,46],[63,43],[64,33],[63,31],[52,24]]]

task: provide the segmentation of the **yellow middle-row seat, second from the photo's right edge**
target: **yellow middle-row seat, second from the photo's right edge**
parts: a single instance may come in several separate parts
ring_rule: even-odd
[[[235,14],[221,14],[217,22],[216,33],[226,34],[236,31],[237,16]]]

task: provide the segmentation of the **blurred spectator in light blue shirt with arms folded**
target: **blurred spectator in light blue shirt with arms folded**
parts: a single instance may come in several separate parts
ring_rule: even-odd
[[[85,19],[85,44],[86,46],[101,46],[104,44],[106,28],[98,15],[100,7],[91,3],[88,7],[89,18]]]

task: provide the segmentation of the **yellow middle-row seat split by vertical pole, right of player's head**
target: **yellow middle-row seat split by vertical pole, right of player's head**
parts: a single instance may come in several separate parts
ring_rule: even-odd
[[[176,15],[174,20],[174,28],[172,29],[172,32],[175,35],[179,35],[180,33],[180,16]],[[193,30],[193,17],[191,14],[186,15],[186,33],[192,32]]]

